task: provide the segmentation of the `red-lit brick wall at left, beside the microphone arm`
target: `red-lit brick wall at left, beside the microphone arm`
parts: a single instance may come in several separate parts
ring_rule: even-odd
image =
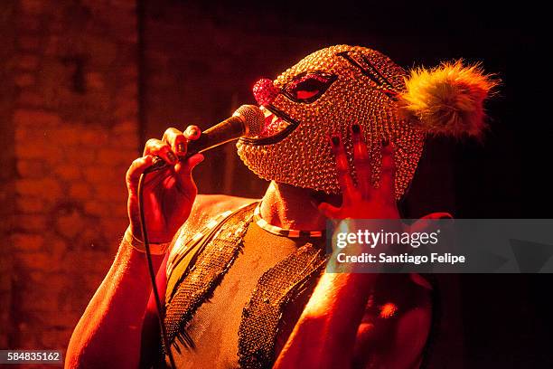
[[[14,226],[10,282],[4,265],[0,281],[11,286],[0,317],[10,329],[0,344],[64,349],[127,227],[124,175],[138,147],[136,8],[132,0],[13,5],[16,89],[1,124],[13,128]]]

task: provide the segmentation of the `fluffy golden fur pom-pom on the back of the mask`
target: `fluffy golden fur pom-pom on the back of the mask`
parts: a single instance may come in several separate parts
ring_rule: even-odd
[[[486,128],[483,101],[497,84],[480,64],[455,61],[417,68],[406,78],[399,111],[431,135],[481,137]]]

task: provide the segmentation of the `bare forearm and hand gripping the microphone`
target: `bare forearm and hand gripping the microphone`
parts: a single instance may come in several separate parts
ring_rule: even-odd
[[[130,229],[137,239],[142,240],[137,185],[140,175],[152,165],[153,156],[162,157],[169,166],[145,180],[144,211],[149,240],[152,243],[172,241],[189,217],[197,194],[192,168],[202,161],[202,155],[183,161],[177,160],[177,156],[184,156],[188,140],[199,136],[198,128],[189,128],[185,134],[169,128],[163,140],[148,140],[144,156],[129,167],[127,208]],[[163,260],[163,255],[153,256],[155,270]],[[71,336],[66,367],[136,368],[150,291],[145,254],[123,241],[106,278]]]

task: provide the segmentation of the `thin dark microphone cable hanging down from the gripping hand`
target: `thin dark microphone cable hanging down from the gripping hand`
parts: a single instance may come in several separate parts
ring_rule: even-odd
[[[169,361],[171,363],[171,367],[175,369],[176,365],[174,364],[173,353],[171,352],[171,346],[169,345],[169,340],[167,339],[167,330],[165,329],[164,319],[162,318],[162,315],[163,315],[162,305],[161,305],[161,300],[159,298],[159,292],[157,290],[157,285],[155,283],[154,264],[152,262],[152,253],[150,251],[150,242],[148,241],[148,232],[146,230],[146,224],[145,224],[144,183],[145,183],[146,175],[148,175],[147,172],[140,175],[140,179],[138,180],[138,213],[140,214],[140,229],[142,230],[142,241],[144,241],[144,246],[145,246],[146,263],[147,263],[147,267],[148,267],[148,273],[150,274],[150,281],[152,282],[152,291],[154,292],[155,307],[157,309],[157,320],[158,320],[158,323],[159,323],[159,327],[161,329],[162,340],[164,342],[164,346],[165,346],[165,349],[167,351],[167,355],[169,356]]]

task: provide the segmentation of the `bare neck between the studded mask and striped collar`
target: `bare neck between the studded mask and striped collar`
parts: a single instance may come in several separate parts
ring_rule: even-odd
[[[284,229],[318,231],[326,222],[317,209],[314,191],[276,182],[267,188],[260,213],[266,222]]]

